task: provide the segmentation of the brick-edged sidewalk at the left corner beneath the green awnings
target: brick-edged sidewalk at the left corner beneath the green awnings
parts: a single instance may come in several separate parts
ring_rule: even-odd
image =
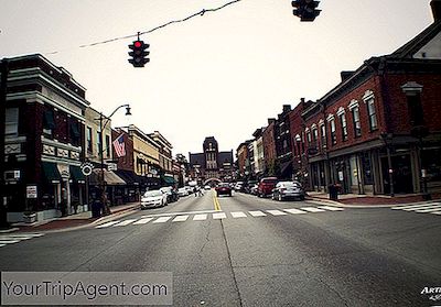
[[[51,219],[36,221],[34,223],[13,223],[12,230],[4,232],[35,232],[35,231],[44,231],[44,232],[60,232],[67,231],[73,229],[80,229],[92,224],[96,224],[103,221],[110,221],[116,219],[117,217],[127,216],[132,211],[140,208],[139,202],[129,202],[120,206],[110,207],[111,213],[109,216],[104,216],[101,218],[93,218],[90,211],[80,212],[77,215],[72,215],[63,218]]]

